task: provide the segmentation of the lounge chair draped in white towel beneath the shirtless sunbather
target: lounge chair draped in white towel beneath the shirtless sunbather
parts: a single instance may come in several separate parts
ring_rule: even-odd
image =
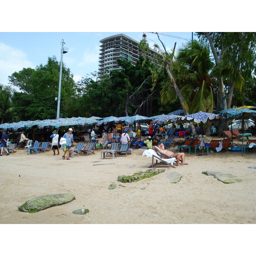
[[[175,168],[175,165],[177,165],[176,163],[174,163],[174,161],[176,160],[175,157],[169,158],[168,156],[157,150],[148,149],[145,150],[142,155],[152,157],[152,164],[148,168],[155,168],[159,166],[162,167],[163,165],[168,165]],[[154,160],[156,160],[156,163],[154,163]]]

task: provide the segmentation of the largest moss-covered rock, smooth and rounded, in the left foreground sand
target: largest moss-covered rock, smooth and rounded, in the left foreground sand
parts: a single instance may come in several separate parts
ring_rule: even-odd
[[[20,212],[34,213],[52,206],[67,204],[74,199],[76,199],[75,196],[69,193],[42,195],[26,201],[24,204],[19,206],[18,209]]]

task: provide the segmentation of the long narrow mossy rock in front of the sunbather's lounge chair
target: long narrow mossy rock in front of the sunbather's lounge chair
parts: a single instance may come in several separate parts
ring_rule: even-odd
[[[117,180],[122,183],[131,183],[153,177],[154,175],[160,174],[161,172],[165,172],[165,169],[156,170],[155,168],[153,168],[148,169],[146,172],[135,172],[133,175],[119,175],[117,177]]]

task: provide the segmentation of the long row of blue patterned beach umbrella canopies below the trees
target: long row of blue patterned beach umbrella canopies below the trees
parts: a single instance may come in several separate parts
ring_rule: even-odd
[[[176,114],[175,114],[176,113]],[[72,117],[72,118],[59,118],[59,119],[46,119],[46,120],[36,120],[36,121],[20,121],[17,123],[5,123],[0,125],[2,129],[10,129],[17,130],[19,128],[31,128],[34,125],[37,125],[38,128],[44,128],[53,126],[55,128],[59,128],[61,126],[70,126],[70,125],[101,125],[107,124],[109,122],[125,122],[134,123],[134,122],[152,122],[158,124],[166,124],[167,122],[196,122],[196,123],[205,123],[207,120],[214,121],[216,119],[221,118],[235,118],[235,119],[249,119],[252,116],[256,116],[256,111],[250,108],[239,108],[239,109],[227,109],[220,111],[218,114],[214,113],[205,113],[205,112],[198,112],[193,113],[187,116],[180,116],[177,113],[182,114],[183,111],[174,111],[167,115],[161,114],[157,116],[108,116],[105,118],[101,118],[98,116],[92,116],[89,118],[86,117]],[[100,120],[101,119],[101,120]]]

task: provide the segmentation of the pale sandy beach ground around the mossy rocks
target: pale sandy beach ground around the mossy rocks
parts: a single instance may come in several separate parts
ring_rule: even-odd
[[[143,157],[143,151],[101,159],[99,149],[71,160],[63,160],[60,152],[27,155],[17,150],[0,157],[0,224],[256,223],[256,169],[248,168],[256,166],[255,152],[186,152],[187,166],[165,166],[165,172],[133,183],[118,182],[117,177],[148,170],[151,158]],[[230,173],[242,182],[224,184],[203,171]],[[170,183],[171,172],[183,177]],[[112,182],[118,189],[108,189]],[[71,193],[76,200],[32,214],[17,209],[29,199],[59,193]],[[72,213],[81,208],[89,212]]]

